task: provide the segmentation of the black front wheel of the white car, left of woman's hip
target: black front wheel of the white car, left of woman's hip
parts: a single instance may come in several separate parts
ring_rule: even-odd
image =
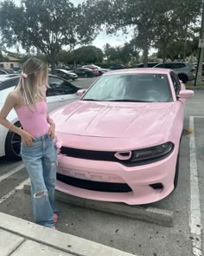
[[[20,121],[15,123],[16,127],[21,128]],[[5,155],[10,160],[21,160],[21,136],[9,131],[5,140]]]

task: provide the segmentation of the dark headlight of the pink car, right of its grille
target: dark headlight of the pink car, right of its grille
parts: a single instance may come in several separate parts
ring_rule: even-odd
[[[131,162],[137,161],[150,161],[156,158],[169,155],[174,149],[174,144],[172,142],[166,142],[161,145],[132,150],[131,152]]]

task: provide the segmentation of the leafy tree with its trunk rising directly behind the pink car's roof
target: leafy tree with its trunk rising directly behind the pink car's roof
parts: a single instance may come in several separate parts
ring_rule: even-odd
[[[143,62],[147,65],[148,52],[156,37],[156,21],[161,7],[169,0],[87,0],[87,8],[94,13],[97,22],[103,24],[108,33],[119,29],[127,32],[131,27],[135,32],[131,44],[143,49]]]

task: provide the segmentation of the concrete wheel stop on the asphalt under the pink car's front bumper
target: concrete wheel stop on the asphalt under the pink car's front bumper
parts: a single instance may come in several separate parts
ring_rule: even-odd
[[[30,194],[30,184],[24,185],[24,192]],[[112,203],[98,200],[87,200],[64,194],[56,191],[56,200],[66,202],[78,207],[86,207],[105,213],[113,213],[119,216],[128,217],[135,220],[143,220],[161,226],[173,226],[173,212],[153,207],[129,206],[123,203]]]

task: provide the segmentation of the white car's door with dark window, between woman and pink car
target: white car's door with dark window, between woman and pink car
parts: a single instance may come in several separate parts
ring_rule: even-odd
[[[77,89],[70,82],[52,75],[49,75],[48,82],[47,102],[49,112],[79,98],[76,95]]]

